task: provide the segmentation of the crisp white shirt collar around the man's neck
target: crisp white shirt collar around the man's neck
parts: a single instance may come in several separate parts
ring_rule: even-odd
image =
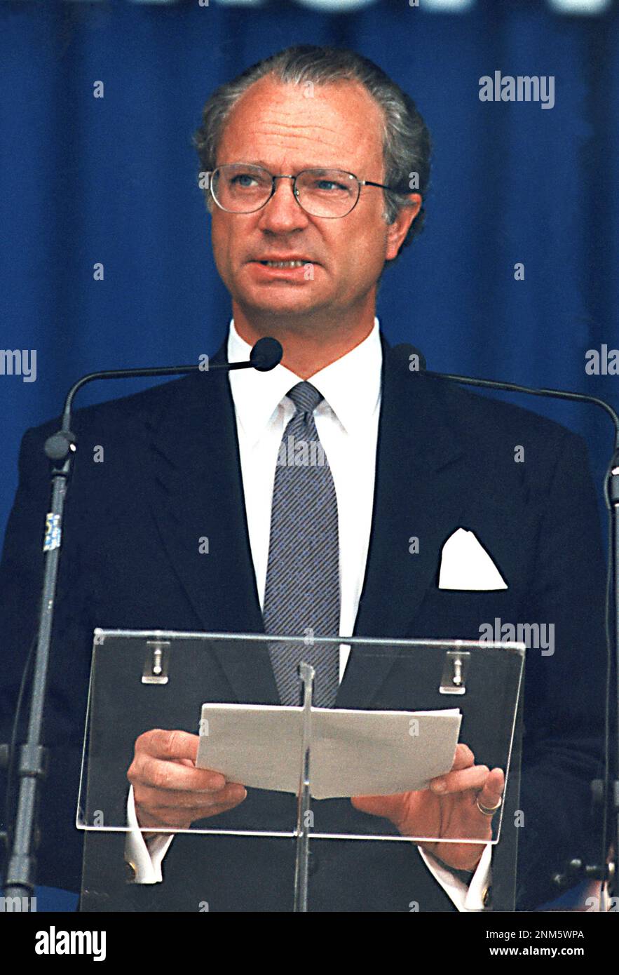
[[[228,362],[249,359],[251,345],[243,339],[230,322],[228,334]],[[382,346],[379,323],[368,337],[336,359],[325,369],[310,376],[308,382],[323,394],[329,408],[349,434],[361,432],[380,403]],[[228,373],[234,406],[251,443],[255,443],[271,420],[276,409],[300,377],[281,364],[268,372],[233,370]],[[327,409],[321,403],[318,410]]]

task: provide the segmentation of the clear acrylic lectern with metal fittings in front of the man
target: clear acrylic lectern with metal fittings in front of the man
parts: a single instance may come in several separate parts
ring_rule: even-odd
[[[366,857],[376,870],[382,869],[379,844],[391,844],[399,873],[397,857],[417,860],[415,846],[443,862],[450,844],[490,844],[491,908],[514,910],[522,643],[314,638],[339,654],[341,683],[329,710],[311,707],[311,683],[309,697],[303,684],[298,708],[279,706],[270,660],[277,643],[298,645],[302,660],[308,641],[95,632],[76,819],[85,832],[81,910],[196,911],[204,904],[218,910],[223,868],[216,865],[229,864],[232,872],[247,858],[253,910],[274,909],[262,906],[256,878],[263,876],[264,904],[278,903],[273,885],[290,884],[290,901],[284,899],[290,908],[283,910],[311,911],[320,878],[320,872],[313,876],[312,849],[327,848],[330,863],[337,843],[346,844],[351,864]],[[144,883],[128,850],[140,831],[150,844],[152,826],[130,825],[127,771],[135,740],[153,728],[200,735],[204,767],[242,781],[248,795],[236,808],[185,830],[158,830],[174,839],[163,858],[163,880]],[[472,750],[476,764],[505,772],[503,801],[491,817],[446,814],[443,800],[427,789],[429,778],[449,770],[458,742]],[[412,797],[406,836],[390,819],[351,802],[352,795],[404,793]],[[278,850],[284,852],[276,870]],[[416,903],[414,895],[411,890],[408,903]]]

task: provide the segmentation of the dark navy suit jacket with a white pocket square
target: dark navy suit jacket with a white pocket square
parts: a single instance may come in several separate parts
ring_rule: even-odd
[[[479,639],[480,626],[496,617],[555,624],[555,653],[531,649],[525,665],[518,905],[531,909],[553,896],[551,879],[567,859],[600,857],[589,783],[600,774],[602,747],[604,566],[586,448],[535,413],[411,373],[382,340],[374,507],[355,635]],[[225,359],[225,344],[217,357]],[[42,448],[56,428],[28,431],[20,452],[0,567],[5,717],[34,630],[49,503]],[[73,823],[94,627],[261,633],[263,624],[225,373],[192,374],[78,410],[73,429],[39,882],[77,889],[82,838]],[[524,462],[515,461],[517,446]],[[94,459],[99,447],[102,462]],[[441,550],[458,527],[476,533],[507,590],[439,589]],[[209,555],[200,552],[204,536]],[[419,539],[414,555],[411,536]],[[213,700],[277,702],[268,667],[223,666],[213,687]],[[406,708],[406,701],[387,660],[369,668],[351,658],[336,706]],[[192,713],[186,726],[195,722]],[[344,817],[354,812],[347,809]],[[119,862],[120,840],[113,839]],[[200,899],[211,910],[289,910],[291,846],[233,842],[244,841],[210,838]],[[412,901],[420,910],[452,910],[409,844],[323,842],[310,890],[315,910],[408,911]],[[127,887],[124,909],[157,910],[161,888],[186,885],[192,843],[174,839],[166,882]]]

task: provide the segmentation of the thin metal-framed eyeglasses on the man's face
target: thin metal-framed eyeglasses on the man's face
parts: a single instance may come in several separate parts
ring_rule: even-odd
[[[358,179],[344,170],[302,170],[296,176],[272,176],[261,166],[231,163],[207,173],[217,207],[228,214],[254,214],[269,202],[276,179],[291,179],[292,193],[299,207],[311,216],[335,219],[354,210],[362,186],[377,186],[391,193],[402,193],[383,183]]]

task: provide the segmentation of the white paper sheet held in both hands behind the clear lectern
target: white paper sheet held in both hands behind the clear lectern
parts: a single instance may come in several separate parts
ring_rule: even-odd
[[[444,711],[312,709],[314,799],[424,789],[453,763],[462,716]],[[298,792],[302,709],[205,704],[199,768],[253,789]]]

